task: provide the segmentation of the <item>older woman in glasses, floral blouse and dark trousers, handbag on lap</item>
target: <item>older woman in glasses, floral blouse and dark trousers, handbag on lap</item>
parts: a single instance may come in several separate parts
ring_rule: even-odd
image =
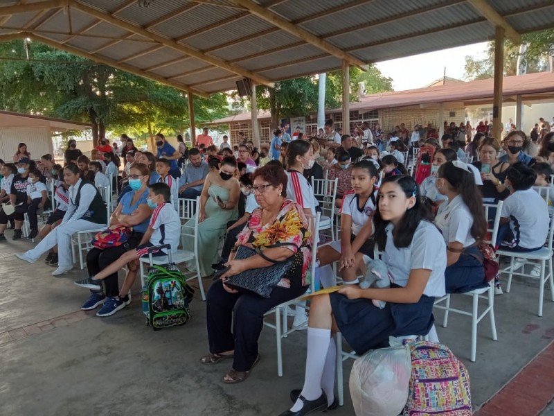
[[[256,170],[253,180],[252,189],[260,208],[253,211],[247,226],[239,234],[235,252],[240,245],[247,245],[262,250],[265,256],[276,261],[292,255],[295,258],[285,277],[271,291],[269,299],[235,291],[224,283],[228,277],[245,270],[271,266],[258,254],[235,260],[235,254],[231,253],[226,263],[229,270],[210,287],[206,304],[210,354],[202,357],[200,362],[215,364],[233,358],[233,367],[222,379],[228,384],[247,379],[252,367],[258,363],[258,338],[264,314],[305,293],[310,283],[312,236],[303,209],[296,202],[287,200],[287,174],[282,167],[269,163]],[[293,245],[267,248],[276,243]]]

